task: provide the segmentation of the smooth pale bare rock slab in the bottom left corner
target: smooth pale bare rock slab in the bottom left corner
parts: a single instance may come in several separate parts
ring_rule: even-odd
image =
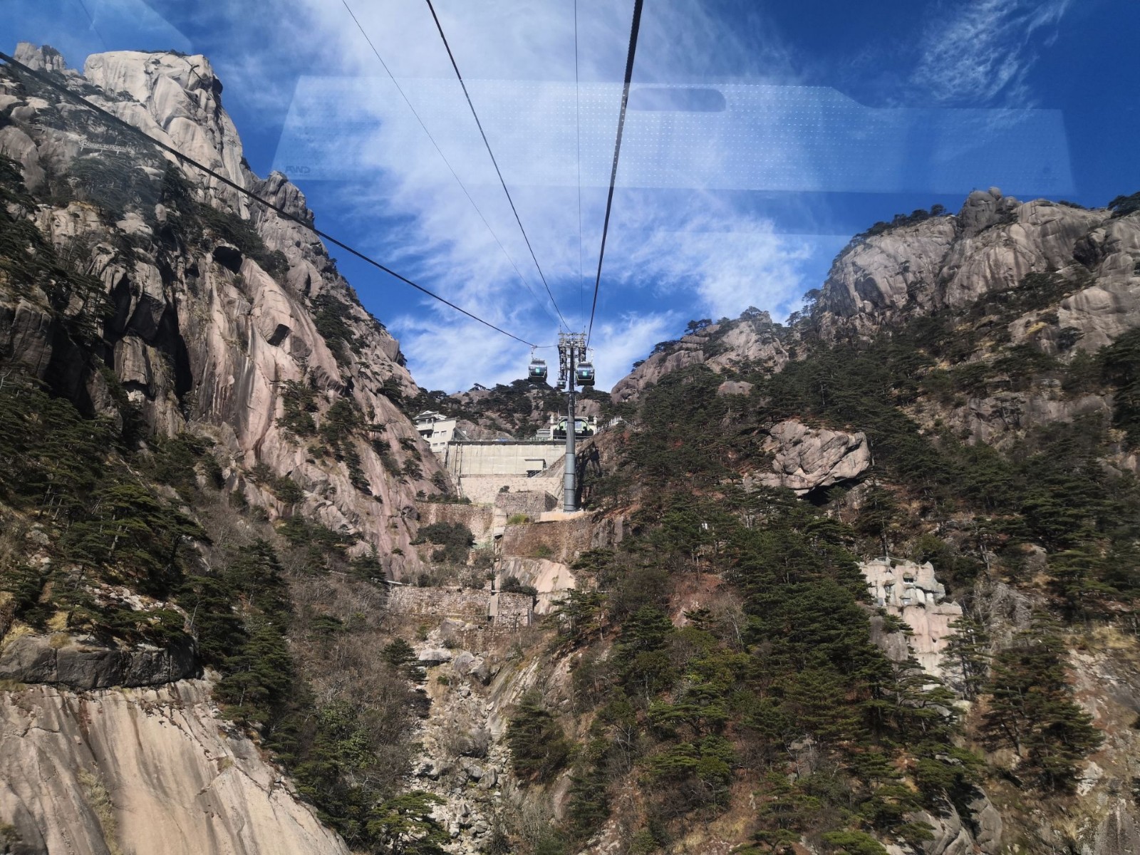
[[[23,855],[348,855],[204,681],[0,692],[0,816]]]

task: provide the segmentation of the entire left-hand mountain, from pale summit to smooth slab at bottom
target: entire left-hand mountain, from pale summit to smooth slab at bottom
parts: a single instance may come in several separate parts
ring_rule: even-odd
[[[17,58],[312,221],[204,57]],[[449,486],[398,342],[302,225],[5,66],[0,394],[0,850],[347,853],[325,723],[368,744],[368,805],[398,791],[372,579],[423,567]]]

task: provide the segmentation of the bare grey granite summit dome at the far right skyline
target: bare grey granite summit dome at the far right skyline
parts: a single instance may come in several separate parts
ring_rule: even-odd
[[[1044,307],[1056,317],[1036,311],[1015,320],[1015,343],[1036,336],[1057,350],[1067,339],[1091,351],[1140,324],[1138,262],[1140,217],[1019,202],[992,187],[971,193],[956,215],[853,241],[832,264],[812,320],[824,340],[869,337],[885,325],[1016,293],[1028,274],[1057,274],[1070,287]]]

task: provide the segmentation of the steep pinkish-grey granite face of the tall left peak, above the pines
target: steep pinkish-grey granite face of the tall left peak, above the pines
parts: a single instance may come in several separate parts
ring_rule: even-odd
[[[99,54],[88,58],[83,76],[63,68],[50,48],[22,44],[18,57],[59,72],[100,107],[312,221],[303,194],[284,176],[260,179],[250,171],[205,57]],[[375,546],[392,575],[418,565],[409,548],[410,510],[417,491],[438,492],[446,474],[393,402],[418,393],[399,343],[360,306],[320,241],[189,166],[193,201],[171,195],[164,173],[174,169],[172,157],[108,130],[105,120],[58,95],[49,103],[48,95],[31,79],[0,73],[0,154],[21,164],[33,195],[56,190],[51,204],[26,217],[62,256],[101,282],[109,317],[98,342],[80,342],[68,320],[82,307],[59,310],[38,290],[0,280],[0,359],[90,414],[115,412],[100,369],[106,364],[153,430],[190,430],[220,442],[236,463],[228,487],[270,518],[283,507],[243,479],[243,470],[264,465],[292,479],[304,492],[298,511],[357,536],[358,548]],[[99,142],[132,152],[129,163],[114,162],[112,174],[136,188],[133,198],[115,195],[114,181],[72,178],[117,156]],[[60,199],[72,187],[82,192]],[[222,225],[188,227],[194,205],[212,210],[207,221]],[[116,207],[117,219],[108,220]],[[243,229],[252,236],[242,238]],[[291,388],[309,397],[316,430],[332,406],[352,405],[361,429],[345,446],[358,465],[311,454],[311,439],[282,425]],[[393,554],[397,547],[402,555]]]

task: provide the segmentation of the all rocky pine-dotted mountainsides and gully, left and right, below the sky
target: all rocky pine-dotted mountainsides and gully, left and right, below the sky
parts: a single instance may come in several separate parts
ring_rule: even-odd
[[[19,57],[311,215],[204,57]],[[877,225],[496,532],[319,243],[3,75],[0,848],[1140,849],[1135,196]]]

